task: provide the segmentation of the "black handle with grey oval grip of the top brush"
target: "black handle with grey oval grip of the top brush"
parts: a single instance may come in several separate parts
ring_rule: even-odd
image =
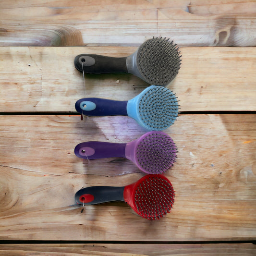
[[[128,72],[126,57],[115,58],[97,54],[80,54],[75,57],[74,66],[80,72],[84,71],[91,74]]]

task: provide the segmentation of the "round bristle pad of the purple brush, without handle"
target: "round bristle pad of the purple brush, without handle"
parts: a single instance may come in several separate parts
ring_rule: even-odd
[[[157,131],[143,136],[135,150],[138,165],[150,174],[160,174],[171,168],[177,153],[171,137]]]

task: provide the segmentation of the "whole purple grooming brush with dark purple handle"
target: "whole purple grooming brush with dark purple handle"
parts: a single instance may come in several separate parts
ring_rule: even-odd
[[[168,134],[160,131],[148,132],[129,143],[99,141],[82,142],[75,146],[79,158],[127,158],[141,170],[160,174],[173,166],[176,159],[176,145]]]

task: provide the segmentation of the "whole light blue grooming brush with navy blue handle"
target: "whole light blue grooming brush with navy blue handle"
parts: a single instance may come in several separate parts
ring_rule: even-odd
[[[171,90],[151,85],[128,101],[82,98],[76,101],[75,109],[87,116],[129,116],[147,130],[161,131],[176,120],[179,105]]]

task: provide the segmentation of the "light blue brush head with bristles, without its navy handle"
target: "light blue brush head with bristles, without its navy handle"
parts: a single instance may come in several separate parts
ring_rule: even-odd
[[[176,120],[179,104],[168,88],[151,85],[127,103],[127,114],[150,131],[162,131]]]

